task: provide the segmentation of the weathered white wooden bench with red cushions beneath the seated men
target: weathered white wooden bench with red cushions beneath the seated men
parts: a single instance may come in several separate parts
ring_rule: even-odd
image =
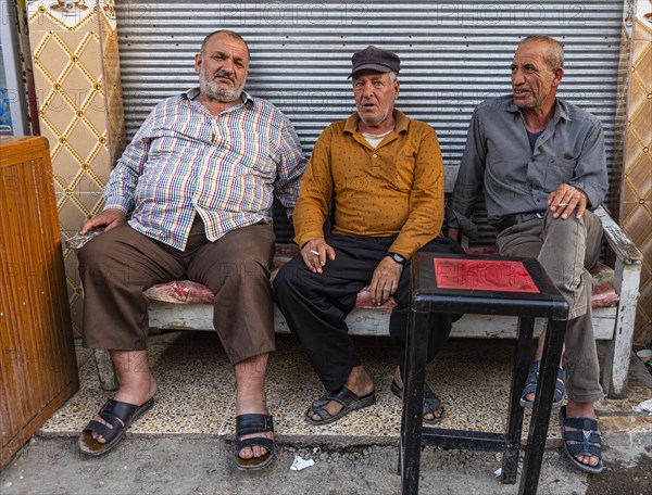
[[[446,190],[451,191],[455,170],[446,167]],[[634,335],[636,305],[639,296],[639,280],[642,255],[623,230],[601,206],[595,213],[602,220],[604,237],[615,257],[614,267],[604,265],[594,274],[593,329],[597,340],[607,341],[606,355],[602,363],[602,385],[610,397],[625,393],[629,358]],[[287,263],[296,246],[278,245],[275,269]],[[492,246],[489,246],[491,250]],[[288,251],[289,250],[289,251]],[[473,252],[473,249],[472,249]],[[475,250],[478,253],[478,250]],[[481,250],[480,250],[481,254]],[[595,271],[595,270],[594,270]],[[197,296],[210,301],[212,294],[203,285],[170,282],[146,292],[150,296],[149,319],[154,329],[213,330],[213,304],[192,303]],[[195,293],[195,294],[193,294]],[[350,333],[354,335],[388,335],[391,306],[375,307],[368,302],[368,293],[359,294],[356,307],[347,317]],[[188,296],[191,304],[188,304]],[[535,331],[541,331],[543,321],[537,321]],[[289,332],[283,314],[275,308],[276,332]],[[516,318],[506,316],[465,315],[453,325],[453,338],[514,339]],[[117,386],[109,353],[96,350],[100,384],[104,390]]]

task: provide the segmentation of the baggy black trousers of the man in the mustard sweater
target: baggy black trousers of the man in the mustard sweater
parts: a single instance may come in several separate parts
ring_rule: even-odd
[[[347,315],[355,306],[358,292],[367,285],[394,238],[355,238],[330,236],[326,242],[335,249],[335,261],[327,261],[322,274],[313,274],[297,256],[286,264],[274,280],[278,307],[299,339],[327,392],[342,385],[350,372],[361,365],[349,329]],[[454,240],[435,239],[421,251],[463,253]],[[398,306],[392,310],[389,333],[401,348],[401,376],[404,373],[405,338],[410,310],[410,272],[408,263],[393,295]],[[428,342],[428,363],[446,344],[451,331],[451,315],[434,319]]]

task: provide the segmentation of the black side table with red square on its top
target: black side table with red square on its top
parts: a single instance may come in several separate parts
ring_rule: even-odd
[[[544,317],[548,331],[518,490],[519,494],[536,493],[566,332],[567,303],[534,258],[417,253],[412,259],[411,289],[399,448],[403,494],[418,493],[422,445],[502,452],[501,481],[516,482],[524,415],[519,398],[528,373],[535,318]],[[423,427],[426,347],[419,342],[426,341],[435,313],[518,317],[506,432]]]

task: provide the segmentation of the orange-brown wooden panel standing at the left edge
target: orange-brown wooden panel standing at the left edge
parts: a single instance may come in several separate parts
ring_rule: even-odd
[[[3,466],[78,389],[50,153],[42,138],[0,138],[0,288]]]

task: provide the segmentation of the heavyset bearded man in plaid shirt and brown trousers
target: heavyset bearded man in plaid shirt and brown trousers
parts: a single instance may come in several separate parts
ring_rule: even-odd
[[[152,407],[143,291],[187,278],[215,294],[214,326],[237,381],[236,464],[272,460],[272,202],[276,194],[291,216],[305,158],[283,113],[243,91],[248,67],[238,34],[209,35],[195,60],[200,87],[154,107],[111,174],[104,210],[80,229],[104,230],[79,252],[84,345],[108,348],[120,380],[79,439],[85,454],[113,448]]]

